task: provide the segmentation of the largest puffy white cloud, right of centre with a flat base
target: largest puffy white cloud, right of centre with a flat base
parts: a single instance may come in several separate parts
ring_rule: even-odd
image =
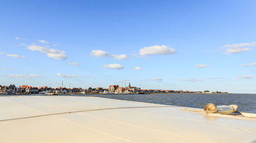
[[[150,47],[144,47],[140,49],[140,55],[154,55],[154,54],[162,54],[162,55],[167,55],[167,54],[175,54],[176,50],[173,48],[168,48],[167,46],[164,45],[155,45],[155,46],[150,46]]]

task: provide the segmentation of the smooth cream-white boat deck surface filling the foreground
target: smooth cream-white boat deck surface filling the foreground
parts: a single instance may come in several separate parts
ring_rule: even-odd
[[[0,97],[0,142],[256,142],[256,119],[96,97]]]

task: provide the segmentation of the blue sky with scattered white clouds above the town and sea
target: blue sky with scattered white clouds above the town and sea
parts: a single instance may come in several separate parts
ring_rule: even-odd
[[[256,1],[1,1],[0,85],[256,93]]]

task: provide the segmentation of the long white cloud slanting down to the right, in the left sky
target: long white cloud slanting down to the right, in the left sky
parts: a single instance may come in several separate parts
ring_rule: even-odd
[[[65,53],[65,51],[61,51],[58,49],[50,49],[47,47],[37,46],[37,45],[31,45],[28,46],[27,49],[30,49],[32,51],[40,51],[42,53],[46,53],[46,55],[50,58],[54,58],[56,60],[66,60],[68,57]]]

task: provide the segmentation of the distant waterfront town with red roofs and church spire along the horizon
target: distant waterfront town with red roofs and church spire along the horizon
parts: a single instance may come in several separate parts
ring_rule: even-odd
[[[32,87],[30,85],[21,85],[16,87],[14,84],[0,85],[0,94],[151,94],[151,93],[222,93],[209,91],[175,91],[175,90],[143,90],[137,87],[132,87],[131,83],[127,87],[119,87],[119,85],[110,85],[108,89],[97,88],[51,88],[51,87]]]

